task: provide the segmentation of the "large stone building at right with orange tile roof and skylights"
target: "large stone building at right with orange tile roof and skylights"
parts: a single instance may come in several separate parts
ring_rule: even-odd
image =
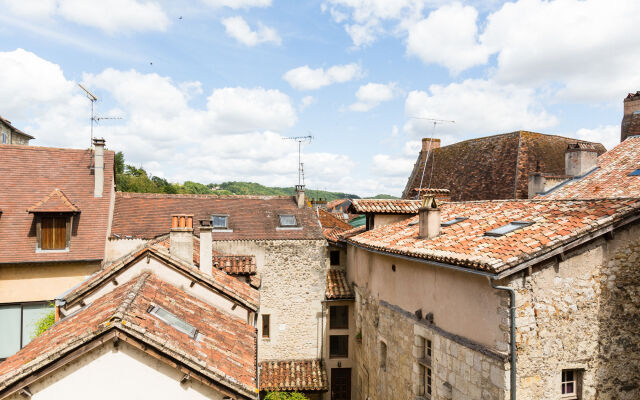
[[[359,398],[639,398],[639,211],[444,203],[347,239]]]

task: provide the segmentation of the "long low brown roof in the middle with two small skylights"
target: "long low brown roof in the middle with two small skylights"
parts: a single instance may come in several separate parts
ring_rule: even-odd
[[[229,216],[228,231],[215,231],[213,240],[322,239],[315,211],[298,208],[290,196],[216,196],[154,193],[116,193],[114,234],[152,239],[169,232],[172,214],[193,214],[193,220],[212,214]],[[295,215],[302,229],[279,228],[279,215]],[[194,224],[197,225],[197,224]],[[200,228],[194,226],[194,233]]]

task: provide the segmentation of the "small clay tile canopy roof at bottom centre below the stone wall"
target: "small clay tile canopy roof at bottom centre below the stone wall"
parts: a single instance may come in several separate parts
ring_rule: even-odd
[[[327,373],[322,360],[263,361],[260,368],[260,390],[327,390]]]

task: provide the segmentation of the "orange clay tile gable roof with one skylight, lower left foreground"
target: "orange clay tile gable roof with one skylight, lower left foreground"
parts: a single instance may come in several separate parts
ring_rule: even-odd
[[[202,337],[196,340],[150,315],[150,305],[186,321]],[[255,396],[255,329],[149,272],[56,323],[0,363],[0,392],[111,329],[217,384],[248,398]]]

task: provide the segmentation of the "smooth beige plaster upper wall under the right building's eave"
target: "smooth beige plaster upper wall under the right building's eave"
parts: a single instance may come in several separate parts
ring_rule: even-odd
[[[371,296],[408,312],[431,312],[440,328],[490,348],[504,347],[500,297],[487,278],[348,248],[347,276]],[[392,270],[392,265],[396,271]]]

